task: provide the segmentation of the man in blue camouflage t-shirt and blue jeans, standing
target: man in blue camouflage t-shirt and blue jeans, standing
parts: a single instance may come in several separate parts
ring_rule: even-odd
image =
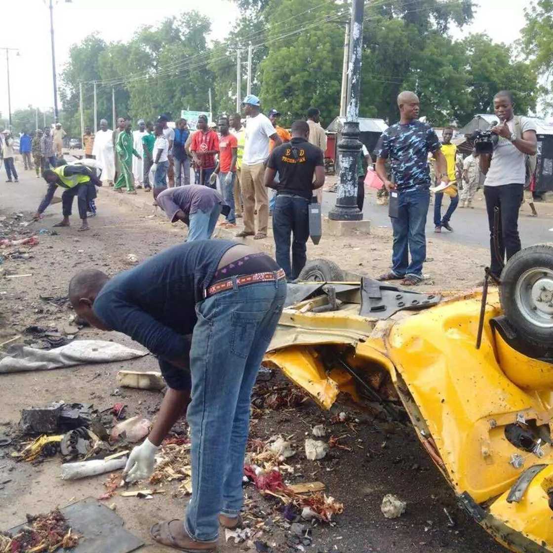
[[[430,205],[429,152],[436,160],[437,178],[444,182],[449,182],[449,179],[440,140],[429,124],[418,119],[418,96],[413,92],[401,92],[398,107],[401,116],[399,123],[382,133],[376,148],[377,174],[388,191],[394,190],[399,194],[397,217],[390,217],[394,231],[392,270],[381,275],[379,280],[401,280],[403,286],[414,286],[422,280],[422,263],[426,258],[425,225]],[[388,178],[386,160],[390,161],[394,183]]]

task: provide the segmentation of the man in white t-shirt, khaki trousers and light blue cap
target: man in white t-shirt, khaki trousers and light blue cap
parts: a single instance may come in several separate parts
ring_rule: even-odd
[[[242,102],[246,114],[246,142],[242,156],[240,185],[244,204],[244,229],[236,236],[253,236],[254,240],[267,238],[269,224],[269,197],[263,184],[265,160],[269,157],[269,142],[274,147],[282,140],[269,118],[261,113],[261,102],[257,96],[248,94]],[[255,232],[254,210],[257,206],[257,233]]]

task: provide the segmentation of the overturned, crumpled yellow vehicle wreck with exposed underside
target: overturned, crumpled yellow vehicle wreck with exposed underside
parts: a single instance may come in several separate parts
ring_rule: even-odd
[[[482,291],[442,300],[367,278],[325,282],[328,263],[317,263],[315,281],[290,286],[265,364],[322,408],[346,393],[410,420],[497,541],[553,551],[553,247],[515,255],[485,301]]]

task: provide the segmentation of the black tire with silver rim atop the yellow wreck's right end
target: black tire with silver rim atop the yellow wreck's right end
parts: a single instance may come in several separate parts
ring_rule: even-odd
[[[501,273],[499,299],[520,338],[553,348],[553,245],[538,244],[513,255]]]

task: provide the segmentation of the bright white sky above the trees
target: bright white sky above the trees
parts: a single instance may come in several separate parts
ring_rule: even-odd
[[[12,0],[2,25],[0,47],[19,48],[10,55],[12,112],[29,104],[45,108],[54,102],[50,53],[48,0]],[[456,38],[468,32],[486,32],[494,41],[512,42],[524,24],[528,0],[479,0],[470,28],[454,30]],[[115,6],[115,7],[114,7]],[[182,11],[197,9],[212,21],[212,38],[223,38],[238,14],[231,0],[58,0],[54,6],[56,66],[58,74],[72,44],[98,33],[107,41],[131,38],[139,25],[152,24]],[[6,53],[0,50],[0,111],[7,118]],[[60,105],[61,108],[61,105]]]

